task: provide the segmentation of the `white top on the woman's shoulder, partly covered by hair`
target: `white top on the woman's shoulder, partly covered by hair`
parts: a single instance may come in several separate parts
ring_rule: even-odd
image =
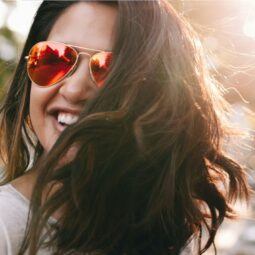
[[[25,233],[29,203],[30,201],[10,183],[0,186],[1,255],[17,255]],[[49,218],[49,224],[54,222],[54,218]],[[191,255],[192,250],[192,245],[189,245],[181,255]],[[40,249],[37,255],[52,255],[52,251]]]

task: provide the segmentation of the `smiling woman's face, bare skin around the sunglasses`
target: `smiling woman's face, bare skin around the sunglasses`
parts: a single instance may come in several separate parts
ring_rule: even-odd
[[[71,5],[58,18],[47,40],[92,49],[112,50],[117,8],[102,3],[80,2]],[[39,142],[47,152],[66,128],[57,116],[76,120],[98,88],[89,73],[89,58],[80,55],[75,72],[52,87],[32,83],[30,117]],[[57,112],[57,114],[56,114]]]

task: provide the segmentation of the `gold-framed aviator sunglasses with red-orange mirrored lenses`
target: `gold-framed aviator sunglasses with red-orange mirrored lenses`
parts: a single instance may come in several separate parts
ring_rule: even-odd
[[[27,73],[32,82],[42,87],[55,85],[75,70],[80,55],[89,57],[92,81],[102,87],[112,63],[112,52],[83,48],[62,42],[36,43],[27,59]]]

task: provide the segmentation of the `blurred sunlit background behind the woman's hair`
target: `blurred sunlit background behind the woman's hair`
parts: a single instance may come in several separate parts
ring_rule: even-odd
[[[213,76],[227,89],[234,125],[255,130],[255,0],[170,1],[199,33]],[[14,73],[41,1],[0,0],[0,100]],[[247,167],[255,188],[254,141],[230,141],[227,150]],[[245,144],[245,145],[244,145]],[[235,149],[233,149],[235,148]],[[216,237],[219,255],[255,255],[255,199],[236,203],[239,219],[226,221]],[[205,253],[212,255],[213,250]]]

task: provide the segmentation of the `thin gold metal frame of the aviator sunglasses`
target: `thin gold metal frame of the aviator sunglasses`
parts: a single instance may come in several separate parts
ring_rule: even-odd
[[[33,81],[33,79],[31,78],[31,76],[29,75],[29,72],[28,72],[28,64],[27,64],[27,74],[28,74],[28,77],[29,79],[34,82],[37,86],[39,87],[44,87],[44,88],[48,88],[48,87],[52,87],[54,85],[56,85],[57,83],[60,83],[61,81],[63,81],[65,78],[67,77],[70,77],[72,74],[73,74],[73,70],[75,70],[75,68],[77,67],[77,63],[78,63],[78,60],[79,60],[79,56],[80,55],[86,55],[89,57],[89,73],[90,73],[90,78],[91,80],[96,84],[97,87],[100,87],[98,85],[98,83],[96,82],[96,80],[94,79],[94,76],[92,74],[92,70],[91,70],[91,59],[94,55],[96,55],[97,53],[111,53],[112,54],[112,51],[109,51],[109,50],[101,50],[101,49],[92,49],[92,48],[85,48],[85,47],[80,47],[80,46],[77,46],[77,45],[72,45],[72,44],[68,44],[68,43],[64,43],[64,42],[57,42],[57,41],[40,41],[40,42],[37,42],[36,44],[34,44],[31,49],[29,50],[29,53],[27,56],[25,56],[25,59],[28,61],[29,60],[29,57],[30,57],[30,53],[32,51],[32,49],[39,43],[57,43],[57,44],[62,44],[62,45],[65,45],[67,47],[70,47],[75,53],[76,53],[76,59],[75,59],[75,62],[72,66],[72,68],[57,82],[54,82],[50,85],[47,85],[47,86],[43,86],[43,85],[39,85],[37,83],[35,83]],[[79,50],[79,51],[78,51]],[[82,50],[82,51],[80,51]],[[94,52],[94,53],[88,53],[88,52]]]

